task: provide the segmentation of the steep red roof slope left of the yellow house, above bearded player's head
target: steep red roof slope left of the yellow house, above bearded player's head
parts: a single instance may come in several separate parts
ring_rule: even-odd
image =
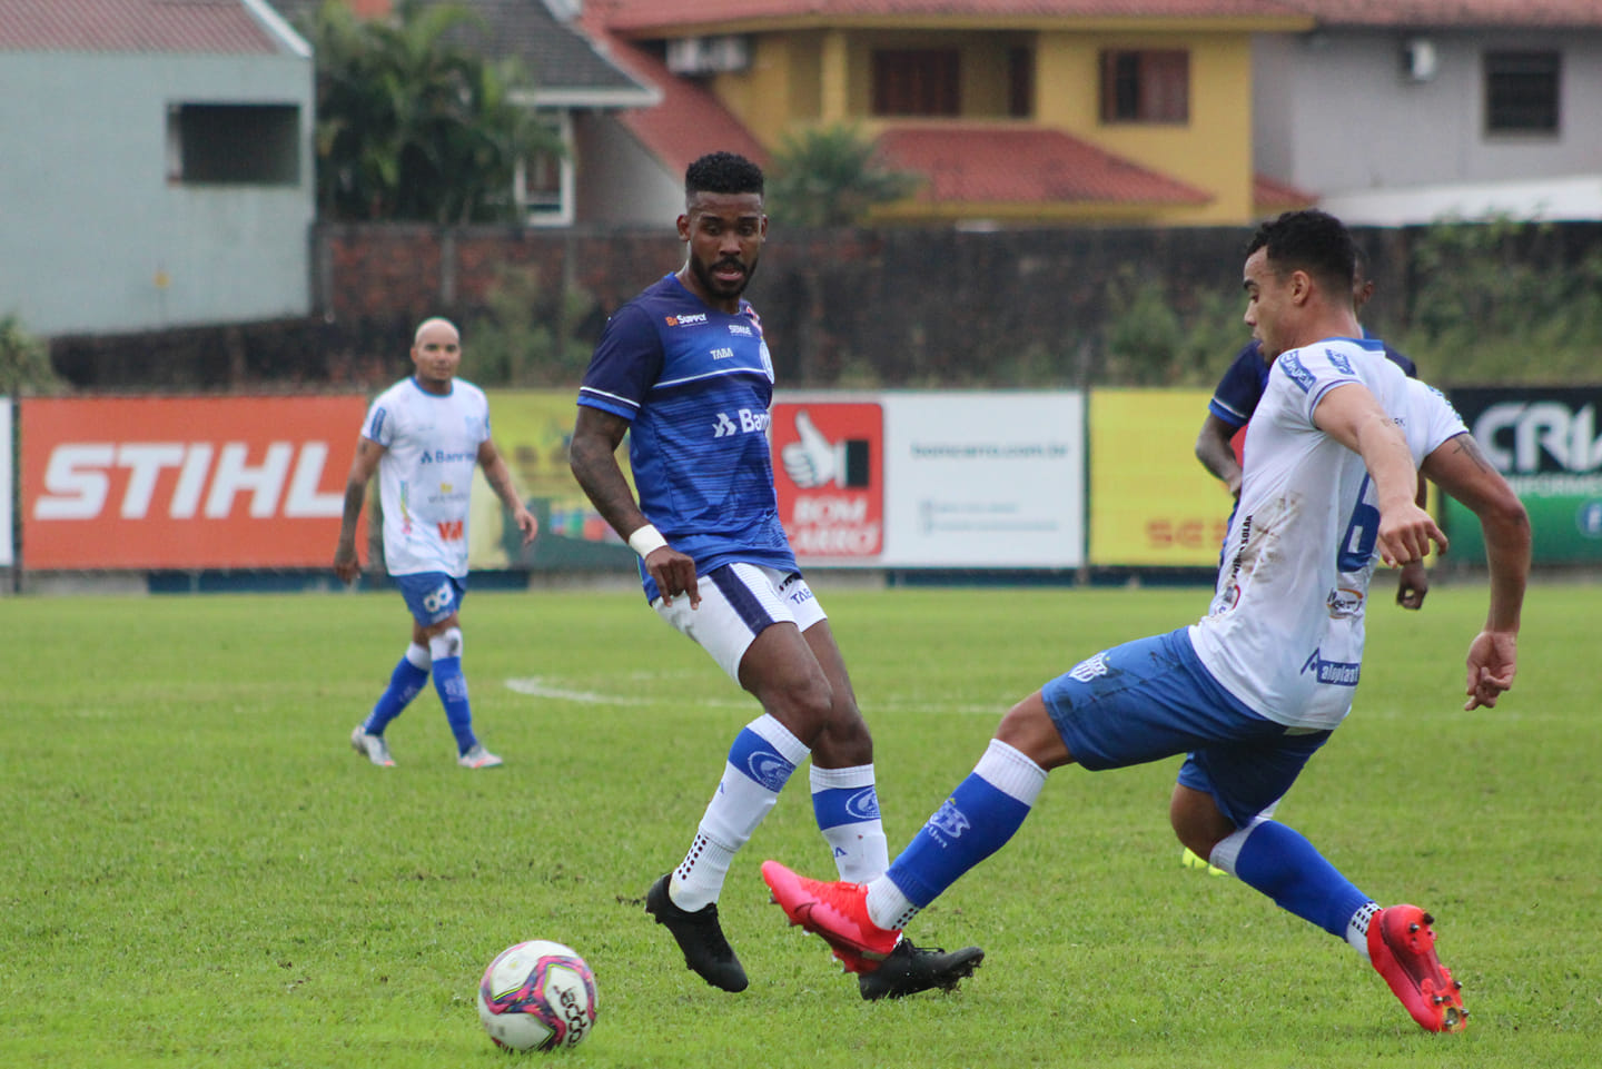
[[[767,165],[767,149],[713,96],[711,90],[670,72],[666,64],[649,51],[596,26],[590,29],[590,37],[604,46],[609,59],[662,90],[660,104],[625,111],[618,115],[618,122],[662,160],[663,167],[682,175],[692,160],[718,151],[739,152],[755,163]]]

